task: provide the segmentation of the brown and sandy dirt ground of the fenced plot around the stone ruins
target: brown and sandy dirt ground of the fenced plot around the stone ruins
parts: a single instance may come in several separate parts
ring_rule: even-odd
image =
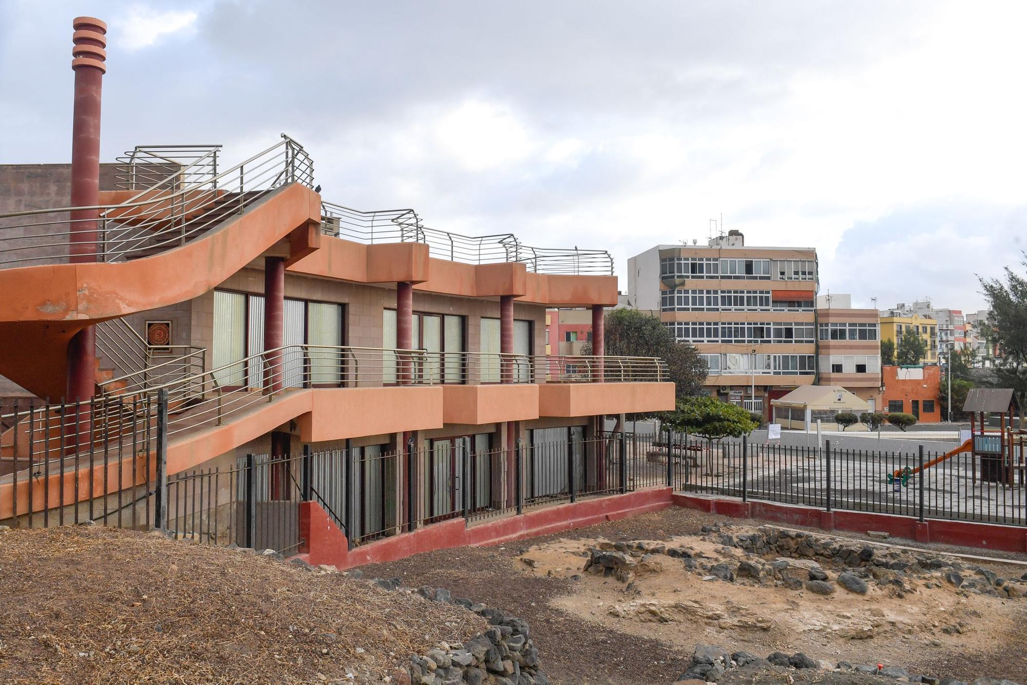
[[[428,553],[365,572],[450,587],[527,619],[555,682],[673,682],[698,642],[763,656],[803,651],[814,659],[883,662],[962,680],[986,675],[1024,681],[1027,599],[959,594],[941,573],[933,579],[938,582],[910,582],[905,593],[871,583],[866,596],[839,588],[825,597],[772,583],[703,579],[705,572],[665,556],[652,562],[660,569],[640,570],[631,587],[582,571],[582,555],[601,540],[663,541],[709,563],[736,564],[745,553],[698,535],[703,525],[717,523],[739,533],[763,522],[671,508],[502,546]],[[981,565],[1003,577],[1027,570]]]

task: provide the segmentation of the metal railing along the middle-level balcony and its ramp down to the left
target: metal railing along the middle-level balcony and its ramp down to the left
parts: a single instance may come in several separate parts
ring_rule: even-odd
[[[302,388],[357,388],[479,383],[659,382],[667,365],[653,357],[548,357],[491,352],[428,352],[330,345],[286,345],[135,391],[36,411],[22,434],[37,455],[65,456],[102,441],[139,440],[155,429],[154,397],[166,390],[167,434],[222,425],[256,406]],[[143,408],[142,410],[140,408]],[[144,412],[145,416],[139,412]],[[83,417],[83,418],[79,418]],[[60,440],[54,430],[60,429]],[[128,432],[126,432],[128,431]],[[76,446],[70,449],[68,446]]]

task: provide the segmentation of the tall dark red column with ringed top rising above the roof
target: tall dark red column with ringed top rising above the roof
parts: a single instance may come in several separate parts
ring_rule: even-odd
[[[107,59],[107,25],[91,16],[72,22],[71,68],[75,72],[75,103],[71,137],[71,205],[100,203],[100,101]],[[99,244],[97,210],[71,213],[68,258],[71,263],[94,262]],[[61,230],[61,229],[58,229]],[[97,339],[91,326],[68,343],[66,402],[84,402],[96,392]]]

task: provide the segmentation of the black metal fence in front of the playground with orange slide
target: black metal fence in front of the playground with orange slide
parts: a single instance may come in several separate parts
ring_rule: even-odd
[[[668,444],[671,460],[667,459]],[[1027,526],[1027,466],[999,457],[870,451],[693,435],[639,435],[676,491],[823,507]],[[936,462],[937,460],[937,462]],[[995,463],[993,463],[995,462]]]

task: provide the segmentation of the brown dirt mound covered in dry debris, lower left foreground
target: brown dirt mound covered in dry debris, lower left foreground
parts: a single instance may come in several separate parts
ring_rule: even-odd
[[[380,683],[485,627],[250,550],[101,526],[0,532],[3,683]]]

